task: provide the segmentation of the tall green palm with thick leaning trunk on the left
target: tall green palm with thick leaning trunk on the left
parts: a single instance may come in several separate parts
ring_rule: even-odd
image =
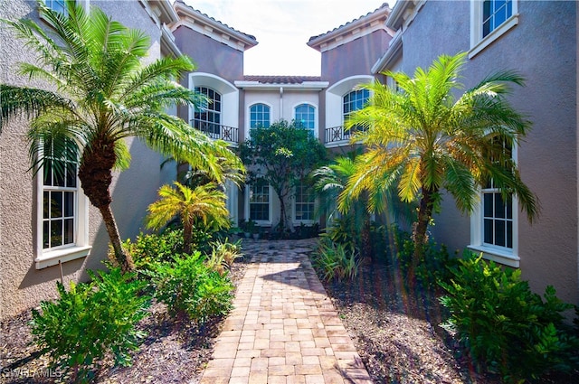
[[[109,192],[112,170],[126,169],[130,161],[125,139],[138,137],[163,155],[199,167],[211,155],[234,155],[164,112],[175,104],[201,105],[198,94],[175,81],[195,70],[192,61],[183,56],[144,66],[150,45],[145,33],[110,20],[96,7],[87,14],[74,1],[66,2],[66,14],[43,1],[39,7],[54,38],[31,20],[3,22],[37,54],[33,63],[21,63],[20,73],[45,80],[48,88],[1,84],[0,126],[10,117],[31,119],[27,136],[34,170],[52,165],[62,172],[59,162],[52,162],[61,156],[79,162],[82,189],[100,210],[115,258],[128,271],[134,266],[122,248]]]

